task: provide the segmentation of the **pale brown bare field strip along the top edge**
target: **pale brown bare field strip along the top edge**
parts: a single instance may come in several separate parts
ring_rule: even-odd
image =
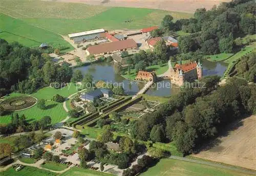
[[[112,7],[137,7],[194,13],[198,8],[211,9],[214,5],[231,0],[42,0],[63,3],[84,3]]]

